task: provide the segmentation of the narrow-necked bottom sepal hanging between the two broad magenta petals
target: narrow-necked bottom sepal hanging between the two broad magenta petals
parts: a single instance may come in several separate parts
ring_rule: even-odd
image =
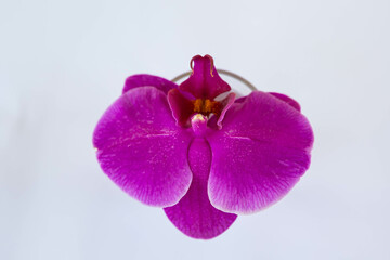
[[[195,139],[188,151],[193,181],[185,196],[174,206],[165,208],[169,220],[184,234],[210,239],[223,233],[237,218],[211,206],[207,195],[207,180],[211,151],[203,138]]]

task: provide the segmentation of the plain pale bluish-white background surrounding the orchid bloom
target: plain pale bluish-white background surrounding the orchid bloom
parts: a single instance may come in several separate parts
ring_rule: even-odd
[[[0,259],[390,259],[389,25],[386,0],[1,0]],[[127,76],[207,53],[299,101],[315,143],[282,202],[205,242],[113,184],[91,139]]]

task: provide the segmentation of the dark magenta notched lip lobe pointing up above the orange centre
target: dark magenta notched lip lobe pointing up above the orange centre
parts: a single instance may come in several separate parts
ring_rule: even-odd
[[[179,86],[180,90],[192,93],[196,99],[209,100],[231,90],[231,87],[218,75],[210,55],[204,57],[196,55],[192,62],[194,62],[193,74]]]

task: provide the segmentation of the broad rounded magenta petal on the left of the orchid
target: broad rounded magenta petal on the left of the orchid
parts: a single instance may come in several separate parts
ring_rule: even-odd
[[[187,192],[192,135],[176,126],[166,94],[154,87],[122,94],[100,119],[93,144],[103,171],[138,200],[167,207]]]

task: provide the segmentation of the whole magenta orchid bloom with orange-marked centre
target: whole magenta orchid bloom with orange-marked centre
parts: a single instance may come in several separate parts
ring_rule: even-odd
[[[180,86],[129,77],[93,144],[120,188],[164,208],[184,234],[209,239],[292,188],[309,168],[313,132],[292,99],[253,91],[235,100],[211,56],[191,64]]]

